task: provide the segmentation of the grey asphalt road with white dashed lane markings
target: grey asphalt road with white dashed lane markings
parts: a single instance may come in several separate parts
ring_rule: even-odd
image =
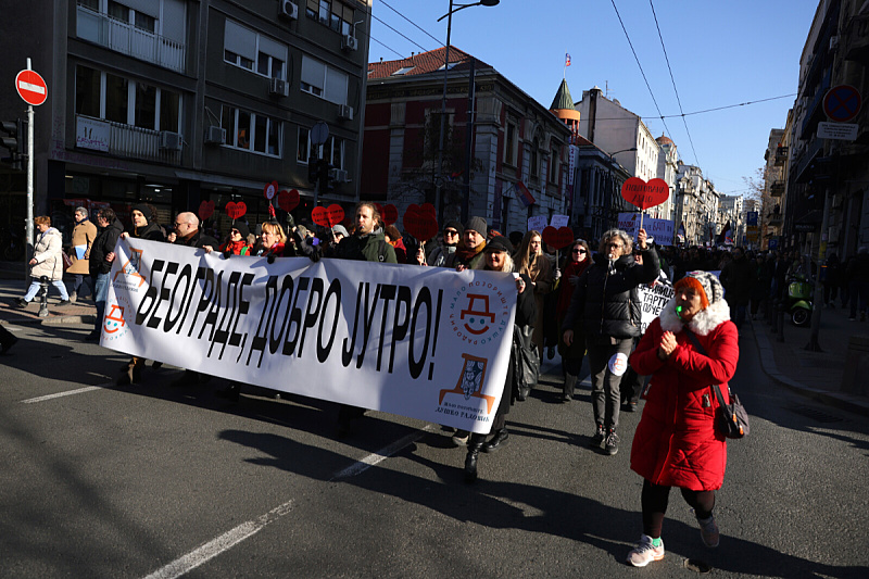
[[[666,557],[633,569],[640,413],[622,414],[616,456],[592,451],[588,383],[559,403],[552,363],[466,486],[464,449],[437,425],[368,413],[339,441],[331,403],[247,389],[234,405],[219,379],[171,388],[168,367],[118,388],[125,357],[81,341],[89,328],[12,329],[3,578],[693,577],[688,559],[717,577],[869,577],[869,425],[768,380],[751,330],[732,388],[752,433],[729,444],[721,546],[673,492]]]

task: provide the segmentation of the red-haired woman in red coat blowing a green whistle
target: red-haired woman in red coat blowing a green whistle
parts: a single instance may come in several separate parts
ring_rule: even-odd
[[[713,508],[725,479],[727,443],[715,428],[718,402],[711,387],[720,385],[728,399],[739,332],[713,274],[691,272],[675,289],[630,357],[638,374],[652,376],[631,449],[631,469],[644,479],[643,536],[628,554],[635,567],[664,558],[660,529],[671,487],[679,487],[694,508],[704,544],[718,546]]]

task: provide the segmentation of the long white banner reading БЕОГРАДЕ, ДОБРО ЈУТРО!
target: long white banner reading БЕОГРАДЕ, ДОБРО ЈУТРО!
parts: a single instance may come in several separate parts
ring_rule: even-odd
[[[101,344],[242,383],[489,432],[513,274],[115,248]],[[509,395],[509,392],[506,393]]]

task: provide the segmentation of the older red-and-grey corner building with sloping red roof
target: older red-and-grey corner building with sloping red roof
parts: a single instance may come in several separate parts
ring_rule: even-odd
[[[429,202],[442,222],[467,203],[502,232],[563,214],[570,129],[490,65],[455,47],[446,71],[445,59],[438,49],[368,65],[362,199],[399,215]]]

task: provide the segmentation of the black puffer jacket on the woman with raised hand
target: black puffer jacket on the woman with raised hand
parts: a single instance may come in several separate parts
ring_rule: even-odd
[[[660,273],[655,250],[640,250],[643,264],[633,255],[622,255],[613,263],[604,254],[579,277],[570,307],[562,327],[582,331],[587,337],[627,339],[640,336],[640,284],[651,284]]]

